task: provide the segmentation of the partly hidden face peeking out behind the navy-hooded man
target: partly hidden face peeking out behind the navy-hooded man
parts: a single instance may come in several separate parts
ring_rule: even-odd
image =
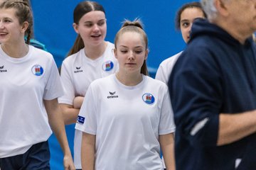
[[[181,13],[180,28],[183,40],[187,43],[190,39],[191,27],[196,18],[205,18],[201,8],[185,8]]]

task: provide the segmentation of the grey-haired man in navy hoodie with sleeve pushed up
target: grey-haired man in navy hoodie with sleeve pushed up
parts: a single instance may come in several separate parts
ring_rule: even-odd
[[[169,79],[176,169],[256,169],[256,1],[201,4]]]

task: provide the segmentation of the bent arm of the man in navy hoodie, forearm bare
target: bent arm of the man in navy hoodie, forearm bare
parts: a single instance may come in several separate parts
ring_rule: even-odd
[[[225,102],[222,84],[225,77],[219,72],[218,64],[209,57],[210,53],[197,54],[201,56],[180,58],[171,74],[174,83],[169,82],[176,125],[182,130],[183,137],[191,145],[220,146],[256,132],[255,111],[220,113]],[[188,60],[191,58],[193,60]],[[185,67],[185,62],[191,64]]]

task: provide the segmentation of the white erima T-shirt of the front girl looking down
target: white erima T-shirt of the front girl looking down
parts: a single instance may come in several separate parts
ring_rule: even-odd
[[[125,86],[114,74],[90,85],[75,125],[96,135],[95,169],[159,170],[159,135],[174,132],[168,88],[143,76]]]

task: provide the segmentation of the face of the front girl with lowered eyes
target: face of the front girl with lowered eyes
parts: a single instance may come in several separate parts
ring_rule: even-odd
[[[141,34],[126,32],[119,35],[117,49],[114,50],[119,62],[119,72],[140,74],[147,54],[148,50]]]

